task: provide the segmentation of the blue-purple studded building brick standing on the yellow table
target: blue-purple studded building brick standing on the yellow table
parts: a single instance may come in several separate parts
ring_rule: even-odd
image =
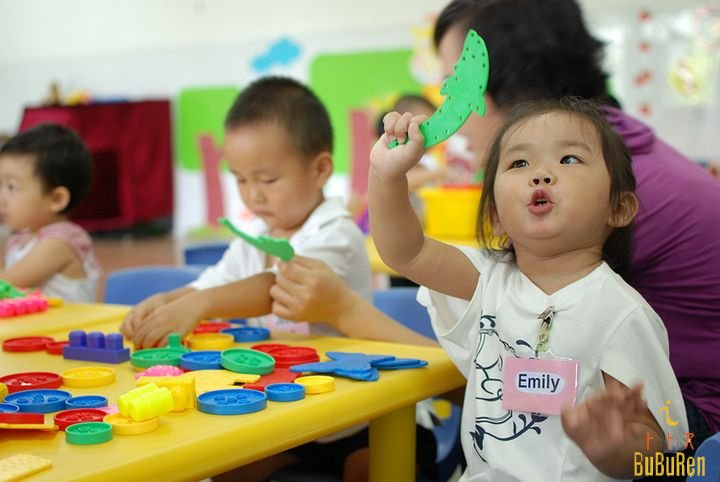
[[[123,346],[120,333],[104,335],[74,330],[68,336],[69,344],[63,347],[63,358],[101,363],[122,363],[130,359],[130,349]]]

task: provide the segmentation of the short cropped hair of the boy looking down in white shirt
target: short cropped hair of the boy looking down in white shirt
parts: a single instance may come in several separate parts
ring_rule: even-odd
[[[248,85],[230,107],[225,129],[266,122],[282,126],[305,158],[332,153],[333,132],[325,106],[294,79],[264,77]]]

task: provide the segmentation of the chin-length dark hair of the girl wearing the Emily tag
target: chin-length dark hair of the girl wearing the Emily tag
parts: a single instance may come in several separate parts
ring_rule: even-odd
[[[505,138],[525,121],[551,112],[566,113],[587,121],[598,135],[605,165],[610,174],[610,203],[618,207],[622,194],[635,192],[632,157],[622,138],[607,122],[597,104],[578,98],[544,100],[517,104],[508,111],[505,124],[500,128],[487,155],[483,191],[478,208],[477,237],[484,246],[493,246],[488,229],[491,213],[495,209],[495,177]],[[603,260],[620,275],[627,274],[632,254],[632,223],[613,229],[603,245]],[[512,250],[507,246],[506,250]]]

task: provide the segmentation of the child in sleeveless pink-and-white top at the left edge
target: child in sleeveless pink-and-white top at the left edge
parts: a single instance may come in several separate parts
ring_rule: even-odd
[[[92,303],[100,270],[88,233],[67,220],[90,187],[90,153],[65,127],[42,124],[0,149],[0,216],[12,234],[0,278]]]

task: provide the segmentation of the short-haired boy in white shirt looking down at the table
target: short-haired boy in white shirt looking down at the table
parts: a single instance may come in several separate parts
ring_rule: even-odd
[[[339,199],[323,195],[333,172],[332,147],[325,107],[310,89],[289,78],[250,84],[225,119],[225,159],[243,203],[256,216],[243,230],[289,239],[298,255],[325,260],[369,300],[370,268],[362,233]],[[256,317],[249,323],[338,335],[330,325],[299,326],[264,316],[272,311],[276,261],[235,239],[196,281],[138,304],[121,331],[136,348],[164,345],[170,333],[185,335],[201,320],[217,317]]]

